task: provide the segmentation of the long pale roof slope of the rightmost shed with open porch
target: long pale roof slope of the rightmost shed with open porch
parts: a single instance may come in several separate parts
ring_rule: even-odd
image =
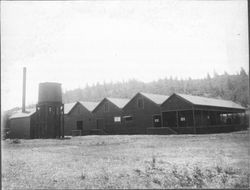
[[[193,96],[187,94],[176,94],[187,101],[191,102],[195,105],[203,105],[203,106],[216,106],[216,107],[224,107],[224,108],[235,108],[235,109],[246,109],[235,102],[230,100],[220,100],[215,98],[207,98],[201,96]]]

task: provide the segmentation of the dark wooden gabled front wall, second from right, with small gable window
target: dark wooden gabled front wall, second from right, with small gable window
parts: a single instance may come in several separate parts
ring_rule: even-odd
[[[138,108],[138,99],[143,99],[143,108]],[[130,134],[146,134],[147,128],[153,127],[153,115],[161,114],[160,106],[137,94],[123,109],[124,116],[132,116],[132,121],[124,121],[124,127]]]

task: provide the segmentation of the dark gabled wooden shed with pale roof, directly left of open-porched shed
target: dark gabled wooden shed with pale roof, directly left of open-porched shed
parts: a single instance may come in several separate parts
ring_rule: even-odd
[[[168,96],[137,93],[123,108],[124,127],[130,134],[146,134],[151,128],[159,128],[161,123],[160,105]]]

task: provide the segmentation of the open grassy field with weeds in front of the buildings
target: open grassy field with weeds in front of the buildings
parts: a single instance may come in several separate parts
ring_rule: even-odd
[[[249,132],[2,141],[2,186],[247,188]]]

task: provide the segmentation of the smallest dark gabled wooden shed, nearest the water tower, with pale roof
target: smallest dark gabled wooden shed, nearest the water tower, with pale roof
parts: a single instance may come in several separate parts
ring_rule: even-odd
[[[92,111],[97,102],[74,102],[64,104],[65,135],[89,134],[95,128],[95,118]]]

